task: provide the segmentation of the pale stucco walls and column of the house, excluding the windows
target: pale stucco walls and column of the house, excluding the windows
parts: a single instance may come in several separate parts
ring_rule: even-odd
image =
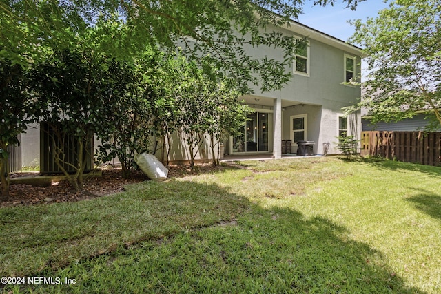
[[[278,29],[278,31],[307,38],[309,72],[307,75],[293,74],[291,81],[280,91],[262,93],[258,87],[254,87],[255,95],[263,98],[262,101],[268,98],[267,104],[263,103],[264,105],[273,105],[271,101],[275,97],[282,101],[282,134],[280,139],[274,134],[274,150],[280,149],[280,140],[290,140],[290,116],[307,114],[306,140],[312,140],[316,144],[314,153],[323,154],[323,144],[329,143],[328,153],[338,154],[340,153],[336,148],[338,115],[343,114],[342,107],[357,103],[361,96],[360,86],[343,84],[345,56],[356,57],[355,76],[360,76],[361,51],[345,42],[302,25],[296,25],[296,23],[290,28]],[[274,48],[249,47],[247,51],[257,58],[267,56],[269,59],[283,59],[282,52],[277,52]],[[287,68],[287,71],[294,71],[293,66]],[[247,98],[245,101],[252,106],[252,99]],[[274,112],[276,112],[276,103],[274,103]],[[348,118],[348,134],[353,133],[360,138],[360,114]],[[278,156],[275,151],[273,155]]]

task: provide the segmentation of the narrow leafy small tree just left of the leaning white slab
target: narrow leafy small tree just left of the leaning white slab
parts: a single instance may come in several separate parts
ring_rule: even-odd
[[[134,156],[143,153],[152,145],[153,112],[150,101],[156,100],[149,90],[150,78],[139,64],[112,60],[109,63],[111,75],[107,78],[110,87],[104,97],[102,124],[96,134],[101,138],[99,161],[105,162],[118,157],[123,178],[129,178],[136,164]]]

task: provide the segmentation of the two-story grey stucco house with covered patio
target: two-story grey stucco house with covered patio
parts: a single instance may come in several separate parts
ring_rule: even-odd
[[[361,50],[332,36],[292,21],[278,28],[285,34],[307,39],[298,48],[291,69],[294,77],[282,90],[245,96],[255,112],[244,122],[242,134],[229,138],[226,154],[294,154],[299,140],[314,141],[314,154],[336,154],[337,136],[358,136],[360,115],[349,117],[342,107],[357,103],[360,86],[351,84],[360,76]],[[254,56],[282,59],[268,48],[248,48]],[[254,52],[252,51],[254,50]]]

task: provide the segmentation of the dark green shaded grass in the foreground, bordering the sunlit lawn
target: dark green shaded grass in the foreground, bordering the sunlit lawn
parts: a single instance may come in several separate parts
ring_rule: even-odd
[[[42,275],[75,278],[37,293],[423,293],[382,253],[324,218],[252,205],[228,225],[141,242]]]

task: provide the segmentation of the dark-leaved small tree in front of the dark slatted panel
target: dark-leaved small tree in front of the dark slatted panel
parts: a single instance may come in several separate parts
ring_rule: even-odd
[[[30,72],[35,94],[39,100],[48,99],[41,116],[48,124],[54,161],[77,190],[83,189],[85,160],[94,134],[103,125],[105,98],[114,91],[111,61],[81,49],[54,52]],[[71,159],[68,152],[74,152]]]

